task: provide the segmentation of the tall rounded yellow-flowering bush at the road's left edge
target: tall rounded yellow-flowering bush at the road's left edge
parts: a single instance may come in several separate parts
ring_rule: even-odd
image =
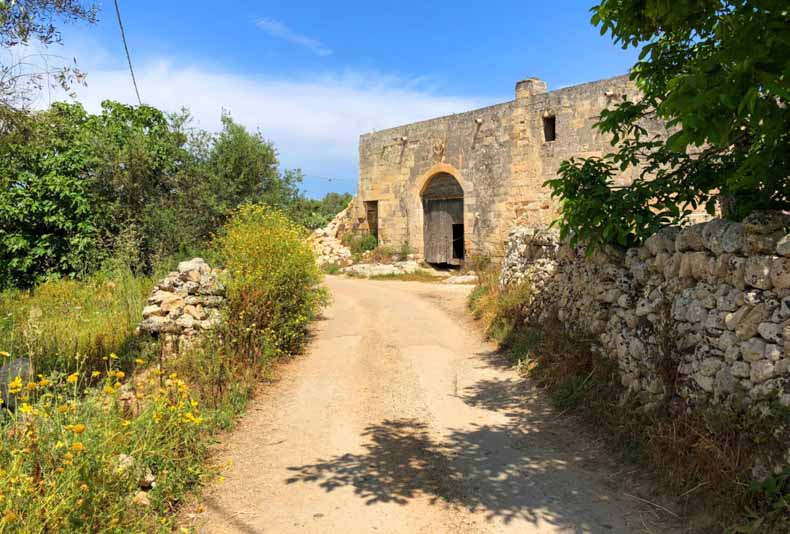
[[[247,205],[217,240],[228,274],[228,334],[252,362],[296,351],[326,302],[306,237],[282,212]]]

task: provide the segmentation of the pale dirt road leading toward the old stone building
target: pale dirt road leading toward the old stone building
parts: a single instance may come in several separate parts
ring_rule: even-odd
[[[202,531],[666,531],[482,340],[469,286],[327,284],[307,354],[227,440]]]

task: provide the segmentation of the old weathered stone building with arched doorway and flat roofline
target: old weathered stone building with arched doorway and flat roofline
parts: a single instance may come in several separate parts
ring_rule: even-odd
[[[529,78],[510,102],[364,134],[346,222],[429,263],[502,255],[515,224],[555,218],[543,183],[563,160],[611,149],[593,128],[601,110],[638,96],[627,76],[556,91]]]

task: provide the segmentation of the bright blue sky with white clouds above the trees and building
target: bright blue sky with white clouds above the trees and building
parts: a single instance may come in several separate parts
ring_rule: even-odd
[[[361,133],[623,74],[633,51],[589,23],[594,1],[162,2],[121,0],[144,102],[222,109],[271,139],[311,196],[356,189]],[[134,102],[112,2],[52,52],[88,72],[79,100]],[[331,178],[328,181],[321,178]]]

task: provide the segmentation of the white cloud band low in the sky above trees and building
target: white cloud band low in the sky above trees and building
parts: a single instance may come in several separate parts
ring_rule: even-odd
[[[88,86],[77,92],[89,111],[97,111],[104,99],[136,103],[122,64],[88,62],[86,68]],[[212,131],[219,129],[220,113],[227,109],[236,121],[274,142],[284,167],[332,178],[356,178],[362,133],[492,103],[443,96],[423,80],[355,71],[253,77],[163,59],[137,66],[135,74],[143,102],[166,111],[188,107],[198,125]]]

